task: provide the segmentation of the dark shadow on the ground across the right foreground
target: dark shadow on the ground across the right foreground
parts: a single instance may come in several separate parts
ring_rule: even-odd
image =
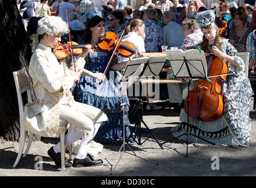
[[[250,147],[255,148],[252,143]],[[189,147],[188,157],[181,155],[170,155],[169,157],[147,157],[145,159],[158,162],[159,165],[139,160],[139,162],[128,170],[115,171],[113,176],[254,176],[256,174],[256,156],[236,158],[237,153],[247,152],[250,147],[225,147],[225,146],[201,146]],[[185,147],[178,149],[180,153],[185,153]],[[230,156],[215,156],[218,153],[229,153]],[[231,156],[232,155],[232,156]],[[214,157],[214,158],[212,158]],[[219,157],[220,170],[213,170],[212,163],[215,157]],[[133,158],[129,158],[132,160]],[[248,162],[251,162],[250,164]],[[119,162],[117,169],[122,169],[126,165],[125,159]],[[115,164],[115,162],[114,162]],[[86,169],[75,172],[77,176],[109,176],[109,173],[102,173],[95,169],[93,173],[88,174]]]

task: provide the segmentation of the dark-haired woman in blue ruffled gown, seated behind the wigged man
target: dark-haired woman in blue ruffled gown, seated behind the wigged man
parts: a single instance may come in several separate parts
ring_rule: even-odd
[[[118,82],[121,74],[115,68],[124,67],[125,63],[118,63],[117,58],[104,75],[104,70],[111,57],[111,52],[101,51],[97,44],[105,34],[105,20],[100,16],[93,16],[87,21],[87,33],[85,41],[88,55],[85,58],[86,64],[81,75],[80,82],[75,88],[74,97],[78,102],[86,103],[103,110],[108,120],[99,128],[94,137],[96,142],[109,145],[121,145],[123,138],[123,115],[121,103],[122,96],[119,93],[121,83]],[[117,71],[114,71],[117,70]],[[125,127],[126,135],[129,136],[129,100],[124,96],[125,105]]]

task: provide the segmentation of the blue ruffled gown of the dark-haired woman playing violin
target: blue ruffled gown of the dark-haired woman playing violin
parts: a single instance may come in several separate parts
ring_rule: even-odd
[[[91,72],[101,72],[107,66],[111,55],[108,52],[89,52],[86,59],[85,68]],[[119,95],[121,84],[118,83],[119,75],[109,68],[106,78],[103,83],[89,76],[81,76],[79,87],[75,88],[74,98],[78,102],[86,103],[95,106],[107,114],[108,120],[103,122],[101,127],[94,137],[96,142],[108,145],[121,145],[123,140],[123,112],[121,108],[122,96]],[[130,135],[129,131],[129,100],[127,95],[124,95],[125,106],[125,129],[126,136]]]

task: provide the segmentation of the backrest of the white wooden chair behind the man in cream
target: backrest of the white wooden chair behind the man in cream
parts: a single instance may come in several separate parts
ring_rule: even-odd
[[[28,75],[25,68],[12,72],[14,75],[14,81],[16,86],[17,98],[19,103],[19,120],[24,122],[24,103],[22,100],[22,93],[26,92],[28,96],[28,102],[32,102],[31,91],[28,86]]]

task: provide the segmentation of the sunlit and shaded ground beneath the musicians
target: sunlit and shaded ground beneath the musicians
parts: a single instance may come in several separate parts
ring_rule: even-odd
[[[159,163],[154,164],[124,153],[113,176],[256,176],[256,112],[251,110],[252,128],[250,147],[224,147],[189,143],[188,157],[185,157],[185,142],[174,140],[164,145],[162,150],[154,139],[142,145],[134,144],[132,150],[137,156]],[[171,127],[179,123],[179,113],[165,108],[155,112],[145,112],[144,120],[159,142],[171,139]],[[143,128],[144,130],[145,128]],[[147,136],[143,134],[142,137]],[[18,143],[0,140],[0,176],[109,176],[119,159],[119,146],[104,146],[98,158],[104,159],[104,165],[98,167],[69,168],[59,172],[46,151],[54,144],[52,139],[32,143],[31,150],[21,158],[15,169]],[[127,150],[129,150],[127,148]],[[43,170],[35,170],[35,157],[42,156]],[[219,157],[220,170],[212,170],[212,163]],[[212,160],[211,160],[212,159]],[[109,162],[109,163],[108,163]],[[111,164],[110,164],[111,163]]]

